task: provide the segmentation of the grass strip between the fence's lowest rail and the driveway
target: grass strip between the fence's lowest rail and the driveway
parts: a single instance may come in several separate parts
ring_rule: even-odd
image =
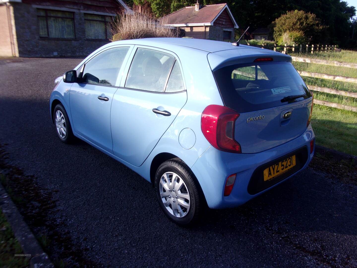
[[[357,155],[357,113],[314,104],[311,125],[316,144]]]

